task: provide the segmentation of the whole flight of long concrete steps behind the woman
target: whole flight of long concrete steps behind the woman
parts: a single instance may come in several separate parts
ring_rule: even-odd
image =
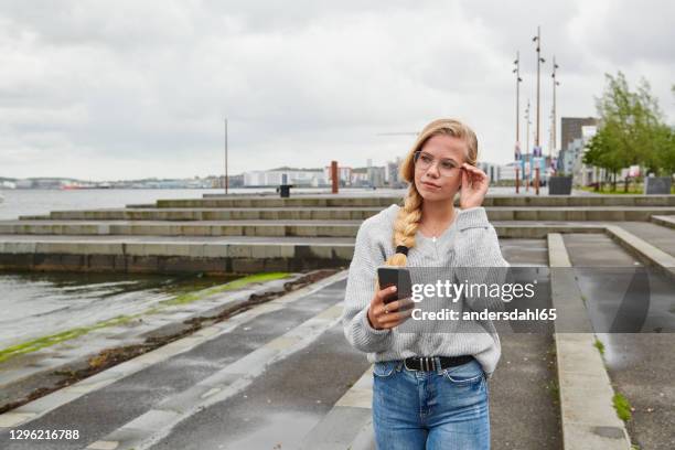
[[[360,224],[397,195],[215,196],[0,221],[0,270],[257,272],[346,266]],[[503,238],[603,233],[675,216],[675,195],[488,196]],[[658,222],[661,221],[661,222]],[[668,232],[673,229],[669,228]]]

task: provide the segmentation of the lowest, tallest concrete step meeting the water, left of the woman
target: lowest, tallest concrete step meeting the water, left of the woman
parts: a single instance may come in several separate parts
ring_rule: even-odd
[[[255,274],[349,266],[344,237],[0,235],[0,270]]]

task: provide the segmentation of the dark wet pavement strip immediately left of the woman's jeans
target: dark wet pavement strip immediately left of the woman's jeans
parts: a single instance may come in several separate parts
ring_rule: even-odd
[[[181,422],[151,449],[294,448],[368,366],[338,324],[245,390]]]

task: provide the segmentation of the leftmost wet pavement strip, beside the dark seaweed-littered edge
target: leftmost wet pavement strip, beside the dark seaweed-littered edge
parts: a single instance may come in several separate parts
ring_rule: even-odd
[[[297,326],[319,311],[341,301],[345,281],[289,303],[285,309],[258,315],[223,336],[190,352],[152,365],[103,389],[56,408],[17,429],[78,429],[77,441],[10,441],[0,432],[2,449],[83,448],[261,344]],[[115,368],[113,368],[114,371]],[[365,367],[364,367],[365,369]],[[362,371],[363,372],[363,371]]]

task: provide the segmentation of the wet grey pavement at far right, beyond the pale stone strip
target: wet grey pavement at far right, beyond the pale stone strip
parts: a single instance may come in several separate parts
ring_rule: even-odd
[[[624,268],[628,274],[642,266],[604,235],[565,235],[565,244],[572,264],[578,267]],[[579,287],[596,326],[601,324],[607,330],[607,317],[613,318],[617,313],[631,278],[599,282],[591,274],[577,270]],[[599,333],[598,339],[604,345],[603,358],[614,389],[634,408],[626,424],[633,443],[641,449],[673,449],[675,296],[667,293],[673,292],[669,279],[649,271],[649,281],[652,296],[633,298],[633,301],[650,302],[642,332]]]

